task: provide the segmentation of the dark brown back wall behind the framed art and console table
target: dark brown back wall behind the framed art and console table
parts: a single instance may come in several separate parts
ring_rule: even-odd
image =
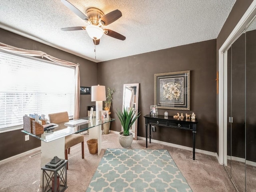
[[[114,54],[114,53],[113,53]],[[216,39],[98,63],[98,84],[116,88],[112,100],[112,118],[122,108],[123,84],[140,83],[138,136],[145,137],[144,115],[154,104],[154,74],[190,70],[191,111],[168,111],[196,114],[198,131],[196,148],[216,152]],[[111,130],[121,131],[119,120],[111,122]],[[157,127],[153,139],[192,147],[192,132]]]

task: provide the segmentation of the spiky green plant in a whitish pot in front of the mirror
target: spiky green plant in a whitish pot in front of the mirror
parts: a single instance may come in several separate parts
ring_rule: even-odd
[[[140,112],[136,115],[134,108],[128,111],[126,108],[123,111],[116,110],[116,114],[122,124],[123,131],[119,133],[119,143],[123,148],[129,148],[132,145],[133,135],[130,132],[132,124],[140,116]]]

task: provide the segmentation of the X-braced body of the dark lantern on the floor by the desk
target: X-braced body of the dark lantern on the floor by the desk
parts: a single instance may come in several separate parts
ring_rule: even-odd
[[[43,166],[43,192],[63,192],[67,186],[67,162],[65,160],[57,168]],[[45,181],[46,180],[46,181]],[[46,186],[44,183],[46,182]]]

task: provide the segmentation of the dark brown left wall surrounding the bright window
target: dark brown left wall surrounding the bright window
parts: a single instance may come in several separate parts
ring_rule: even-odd
[[[23,36],[14,34],[0,28],[0,42],[24,48],[28,50],[40,50],[62,60],[67,60],[74,63],[79,63],[80,66],[80,85],[92,86],[97,84],[97,64],[51,46],[36,42]],[[38,80],[41,82],[40,74]],[[87,106],[93,105],[90,95],[81,95],[80,97],[80,116],[87,116]],[[24,133],[21,130],[5,132],[0,134],[0,160],[11,156],[26,152],[37,148],[41,145],[40,140],[32,138],[25,142]]]

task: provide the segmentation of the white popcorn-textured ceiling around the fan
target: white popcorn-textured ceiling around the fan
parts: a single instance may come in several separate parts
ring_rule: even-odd
[[[0,0],[0,28],[26,36],[77,56],[101,62],[217,38],[235,0],[69,0],[85,13],[95,7],[122,17],[104,27],[126,40],[103,35],[94,44],[87,26],[60,0]],[[50,53],[47,53],[50,54]]]

